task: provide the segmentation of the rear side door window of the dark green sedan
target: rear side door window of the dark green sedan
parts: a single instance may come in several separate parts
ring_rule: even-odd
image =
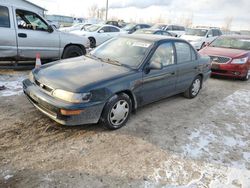
[[[185,63],[192,60],[191,47],[185,42],[176,42],[177,63]]]

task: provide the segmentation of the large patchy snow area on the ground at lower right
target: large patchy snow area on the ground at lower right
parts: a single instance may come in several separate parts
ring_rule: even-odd
[[[196,122],[181,156],[172,155],[145,187],[250,187],[250,91],[238,90]],[[162,186],[161,186],[162,187]]]

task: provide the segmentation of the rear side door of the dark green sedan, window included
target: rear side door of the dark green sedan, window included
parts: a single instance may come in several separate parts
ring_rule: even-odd
[[[195,50],[184,41],[175,42],[177,57],[177,92],[185,91],[198,74],[198,59]]]

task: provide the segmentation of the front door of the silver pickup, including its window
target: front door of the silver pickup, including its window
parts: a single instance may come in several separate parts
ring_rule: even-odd
[[[34,59],[40,53],[43,59],[59,59],[59,32],[50,33],[48,24],[30,11],[15,9],[18,55],[21,59]]]

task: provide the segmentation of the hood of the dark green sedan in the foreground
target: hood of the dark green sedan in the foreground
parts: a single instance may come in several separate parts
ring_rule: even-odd
[[[35,69],[35,79],[52,89],[81,92],[92,84],[118,78],[132,69],[81,56],[56,61]]]

